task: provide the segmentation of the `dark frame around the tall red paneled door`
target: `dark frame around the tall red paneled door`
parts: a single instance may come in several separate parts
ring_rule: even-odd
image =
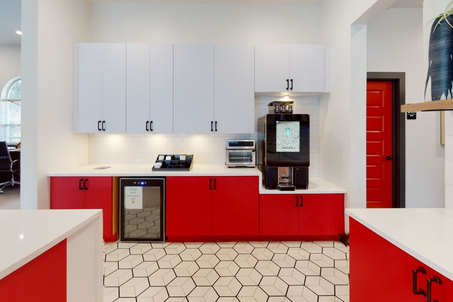
[[[406,101],[406,74],[405,72],[366,72],[367,81],[391,81],[393,88],[392,98],[392,206],[406,207],[406,122],[405,113],[401,112],[401,105]]]

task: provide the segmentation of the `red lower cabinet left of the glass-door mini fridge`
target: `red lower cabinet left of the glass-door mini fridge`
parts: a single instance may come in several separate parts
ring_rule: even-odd
[[[102,209],[104,241],[119,236],[117,177],[50,177],[50,209]]]

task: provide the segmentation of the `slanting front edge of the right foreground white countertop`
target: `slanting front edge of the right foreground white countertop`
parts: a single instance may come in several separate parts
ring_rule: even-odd
[[[389,241],[391,244],[395,245],[396,247],[402,249],[403,251],[405,251],[407,254],[410,254],[412,257],[414,257],[415,259],[423,262],[424,264],[426,264],[427,266],[429,266],[430,268],[433,268],[435,271],[443,274],[445,277],[447,277],[448,279],[450,280],[453,280],[453,272],[443,268],[440,264],[437,264],[436,262],[434,262],[433,260],[431,259],[428,259],[422,255],[420,255],[419,253],[417,253],[414,249],[411,249],[409,248],[408,246],[406,246],[405,244],[402,244],[400,241],[396,240],[395,238],[391,237],[390,235],[384,233],[383,231],[379,230],[378,228],[376,228],[375,226],[369,224],[368,222],[366,222],[365,220],[361,219],[359,216],[355,215],[354,213],[352,213],[351,211],[349,211],[349,209],[345,209],[345,213],[353,218],[354,220],[360,222],[362,225],[366,226],[368,229],[372,230],[373,232],[375,232],[377,235],[380,235],[382,238],[384,238],[385,240]]]

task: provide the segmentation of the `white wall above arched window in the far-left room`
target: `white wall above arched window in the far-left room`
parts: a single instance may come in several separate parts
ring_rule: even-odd
[[[0,91],[7,81],[20,76],[20,45],[0,45]]]

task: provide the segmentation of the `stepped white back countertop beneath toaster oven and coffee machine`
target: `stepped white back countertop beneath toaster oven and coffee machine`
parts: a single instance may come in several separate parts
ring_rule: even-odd
[[[95,170],[100,166],[111,166],[108,169]],[[307,190],[279,191],[266,190],[261,183],[261,171],[258,168],[228,168],[225,164],[193,164],[190,171],[152,171],[152,164],[89,164],[73,168],[62,168],[60,171],[51,171],[47,176],[119,176],[119,177],[162,177],[162,176],[259,176],[260,194],[323,194],[346,193],[345,189],[319,177],[310,177]]]

